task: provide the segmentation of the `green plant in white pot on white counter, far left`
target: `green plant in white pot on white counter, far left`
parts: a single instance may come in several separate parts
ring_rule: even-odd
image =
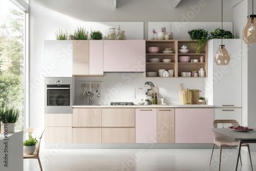
[[[15,130],[15,122],[17,122],[18,117],[19,111],[13,107],[0,109],[1,133],[13,133]]]

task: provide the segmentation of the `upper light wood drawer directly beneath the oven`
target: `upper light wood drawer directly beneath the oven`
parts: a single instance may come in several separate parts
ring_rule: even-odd
[[[45,114],[45,126],[72,126],[72,114]]]

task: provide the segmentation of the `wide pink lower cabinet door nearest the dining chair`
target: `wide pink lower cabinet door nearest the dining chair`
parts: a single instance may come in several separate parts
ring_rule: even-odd
[[[175,143],[212,143],[214,109],[175,109]]]

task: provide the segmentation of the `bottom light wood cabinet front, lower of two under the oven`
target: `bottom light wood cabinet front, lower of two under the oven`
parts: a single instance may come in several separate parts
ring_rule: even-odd
[[[72,143],[72,127],[45,127],[45,143]]]

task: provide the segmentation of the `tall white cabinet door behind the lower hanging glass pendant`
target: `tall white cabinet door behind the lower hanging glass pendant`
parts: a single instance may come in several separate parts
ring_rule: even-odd
[[[227,66],[217,66],[214,62],[214,56],[221,45],[221,39],[211,40],[208,44],[209,59],[213,60],[213,73],[208,78],[206,87],[213,85],[214,106],[232,108],[242,106],[242,40],[241,39],[223,39],[231,60]],[[209,67],[210,68],[210,67]],[[208,75],[209,77],[209,75]],[[213,80],[213,83],[210,83]]]

